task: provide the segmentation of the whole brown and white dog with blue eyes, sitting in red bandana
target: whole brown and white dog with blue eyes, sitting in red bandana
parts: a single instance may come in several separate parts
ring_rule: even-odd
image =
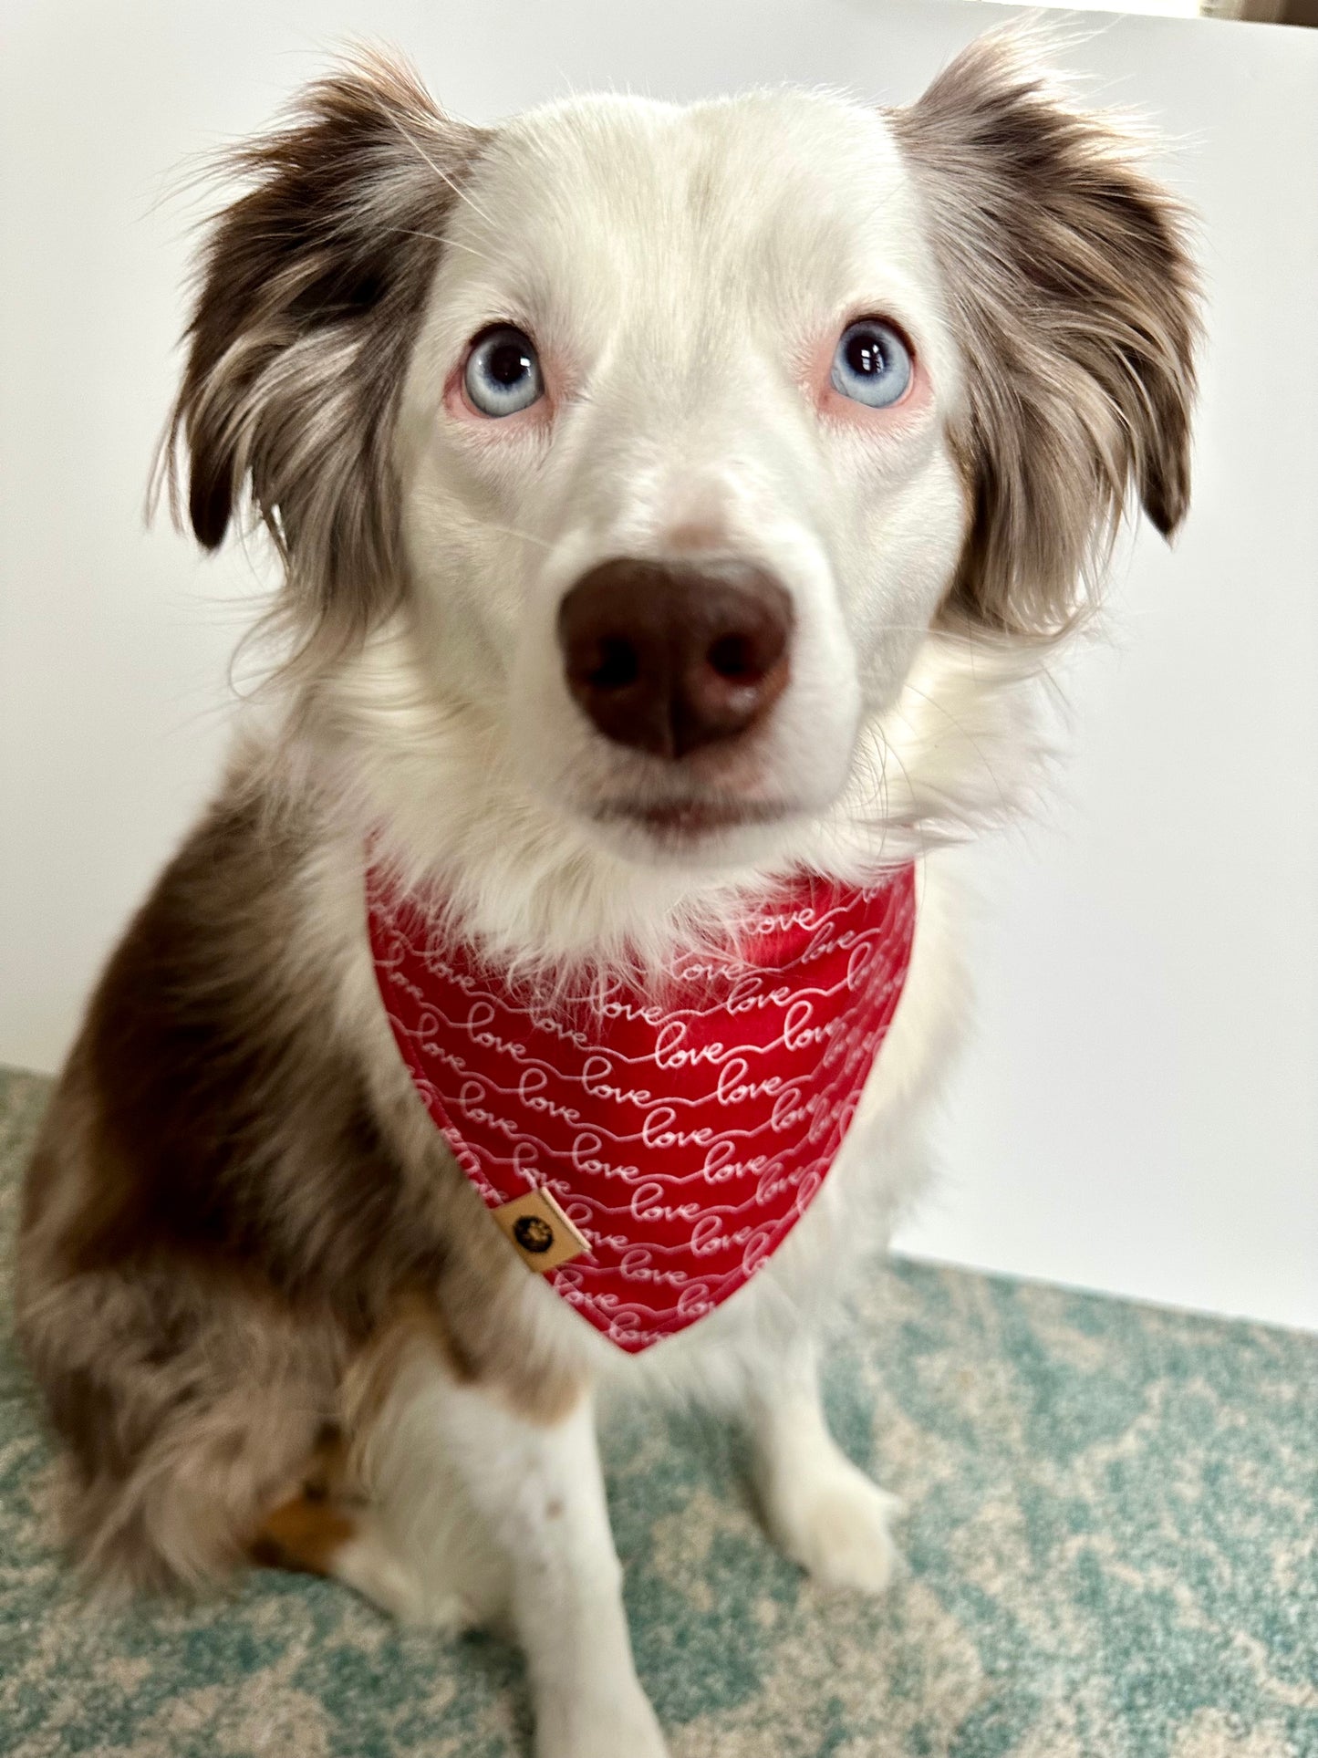
[[[162,468],[206,548],[244,510],[269,534],[279,663],[26,1176],[65,1529],[112,1586],[255,1559],[503,1623],[540,1758],[659,1758],[597,1398],[740,1417],[786,1552],[887,1584],[893,1503],[817,1355],[919,1192],[967,1014],[942,849],[1037,786],[1037,673],[1125,512],[1186,512],[1188,220],[1012,33],[905,109],[592,97],[490,128],[362,51],[228,171]],[[796,992],[750,942],[801,933],[863,1018],[773,1013]],[[684,997],[724,979],[743,1035],[691,1048]],[[527,1051],[596,1055],[601,1021],[677,1071],[668,1099],[599,1039],[594,1097],[645,1109],[626,1151]],[[699,1086],[733,1050],[731,1099]],[[756,1079],[761,1053],[796,1060]],[[777,1208],[719,1257],[717,1187],[648,1167],[694,1143],[712,1180],[708,1106],[743,1097],[763,1139],[800,1125],[794,1171],[728,1171]],[[547,1155],[594,1132],[585,1195],[534,1153],[499,1187],[513,1102]],[[592,1227],[597,1190],[640,1231]]]

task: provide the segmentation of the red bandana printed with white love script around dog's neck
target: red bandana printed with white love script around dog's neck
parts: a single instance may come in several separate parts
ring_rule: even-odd
[[[552,1004],[376,874],[367,905],[388,1023],[459,1166],[636,1352],[735,1294],[824,1181],[902,999],[916,875],[803,877],[655,993]]]

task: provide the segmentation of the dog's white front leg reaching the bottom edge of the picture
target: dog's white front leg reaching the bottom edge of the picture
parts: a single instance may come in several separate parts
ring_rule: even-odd
[[[469,1385],[446,1405],[446,1449],[508,1558],[536,1758],[664,1758],[631,1658],[592,1398],[557,1422],[517,1415]]]

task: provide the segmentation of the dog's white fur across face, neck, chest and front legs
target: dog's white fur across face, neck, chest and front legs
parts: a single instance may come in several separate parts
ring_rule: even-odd
[[[868,311],[905,327],[930,394],[905,422],[822,420],[808,360]],[[464,343],[501,318],[534,332],[564,383],[552,434],[501,438],[445,410]],[[930,635],[965,534],[945,440],[960,397],[919,202],[877,114],[805,95],[692,111],[605,98],[499,132],[452,222],[399,420],[413,599],[281,742],[343,826],[308,870],[308,921],[343,972],[337,1027],[369,1046],[402,1129],[431,1125],[374,999],[366,833],[467,932],[554,972],[659,965],[793,867],[854,879],[1021,802],[1039,754],[1021,668]],[[796,615],[768,738],[712,758],[698,784],[787,810],[673,849],[597,816],[673,779],[575,708],[554,617],[585,568],[664,556],[692,526],[777,573]],[[490,1322],[534,1329],[605,1392],[740,1408],[771,1531],[835,1586],[887,1582],[891,1500],[828,1436],[814,1338],[919,1187],[919,1116],[965,1016],[960,912],[928,853],[907,990],[845,1148],[717,1313],[631,1359],[520,1264],[490,1287]],[[483,1224],[474,1192],[453,1201],[457,1225]],[[590,1399],[536,1426],[420,1359],[367,1464],[378,1521],[344,1579],[436,1623],[506,1616],[541,1758],[659,1758]]]

